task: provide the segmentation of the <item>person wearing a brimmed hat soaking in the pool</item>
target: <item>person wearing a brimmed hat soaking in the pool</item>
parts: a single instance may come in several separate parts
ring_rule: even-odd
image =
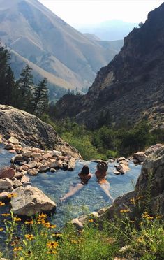
[[[112,200],[112,196],[110,195],[110,183],[106,180],[107,175],[107,163],[105,161],[101,161],[97,164],[97,171],[95,173],[96,178],[98,179],[98,184],[100,185],[101,189],[105,192],[105,194]]]

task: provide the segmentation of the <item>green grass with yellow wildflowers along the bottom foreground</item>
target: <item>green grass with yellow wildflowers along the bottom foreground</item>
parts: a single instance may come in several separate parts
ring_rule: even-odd
[[[0,226],[0,232],[5,236],[6,249],[0,245],[0,255],[21,260],[164,259],[162,216],[153,217],[143,211],[140,217],[131,219],[128,212],[122,209],[121,217],[113,220],[89,217],[82,231],[67,224],[62,233],[57,233],[56,226],[48,222],[45,214],[24,222],[21,232],[21,219],[12,212],[3,214],[1,223],[4,222],[5,228]]]

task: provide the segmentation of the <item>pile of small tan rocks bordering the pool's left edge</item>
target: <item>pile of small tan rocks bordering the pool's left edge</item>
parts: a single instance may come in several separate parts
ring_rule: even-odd
[[[68,171],[73,171],[75,168],[75,158],[69,154],[63,155],[57,150],[45,151],[34,147],[23,147],[13,136],[8,139],[5,149],[17,153],[11,159],[11,168],[15,169],[16,178],[23,177],[26,173],[38,175],[46,171],[55,172],[59,168]]]

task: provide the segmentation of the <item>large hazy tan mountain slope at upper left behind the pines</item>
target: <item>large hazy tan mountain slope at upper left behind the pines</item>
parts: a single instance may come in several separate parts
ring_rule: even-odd
[[[41,75],[51,73],[51,81],[65,89],[89,87],[100,67],[117,53],[89,40],[38,0],[0,0],[0,38],[14,53],[35,64],[36,71],[42,68]]]

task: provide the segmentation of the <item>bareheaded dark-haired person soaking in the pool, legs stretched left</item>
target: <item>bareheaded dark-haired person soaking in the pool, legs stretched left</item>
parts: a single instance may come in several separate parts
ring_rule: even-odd
[[[87,185],[89,179],[91,179],[92,174],[89,173],[89,167],[87,165],[84,165],[82,167],[81,172],[78,174],[79,178],[81,180],[80,183],[77,183],[77,185],[73,186],[70,185],[70,188],[68,190],[68,193],[64,195],[60,201],[66,201],[67,198],[70,198],[71,196],[75,195],[80,189],[84,187],[84,185]]]

